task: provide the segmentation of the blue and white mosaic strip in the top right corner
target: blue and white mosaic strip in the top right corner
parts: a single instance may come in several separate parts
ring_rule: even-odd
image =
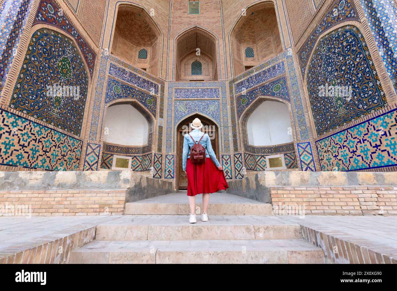
[[[361,0],[364,15],[397,92],[397,8],[393,0]]]

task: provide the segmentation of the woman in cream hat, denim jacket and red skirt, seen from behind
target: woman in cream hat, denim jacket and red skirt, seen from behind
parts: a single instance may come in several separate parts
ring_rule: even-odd
[[[190,125],[193,130],[185,134],[183,139],[182,168],[187,175],[187,195],[189,196],[190,216],[189,223],[196,223],[195,196],[202,193],[201,221],[208,221],[207,208],[210,193],[229,188],[227,185],[223,168],[219,164],[214,150],[212,149],[208,134],[200,131],[202,123],[195,118]],[[194,141],[193,141],[194,140]],[[206,162],[196,164],[190,160],[191,148],[195,144],[205,148]]]

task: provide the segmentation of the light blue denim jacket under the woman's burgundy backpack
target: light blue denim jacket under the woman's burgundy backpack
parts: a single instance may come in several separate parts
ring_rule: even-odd
[[[193,129],[190,133],[190,135],[195,139],[196,142],[202,137],[204,133],[200,131],[199,129]],[[189,134],[185,134],[185,137],[183,138],[183,153],[182,153],[182,169],[183,171],[186,171],[186,164],[187,164],[187,159],[190,157],[190,149],[194,145],[193,140],[191,137],[189,137]],[[215,152],[212,149],[211,145],[211,140],[208,134],[204,134],[204,137],[200,141],[200,145],[202,145],[205,148],[205,153],[207,158],[211,158],[212,162],[216,165],[216,167],[219,167],[220,164],[218,162],[218,159],[215,156]]]

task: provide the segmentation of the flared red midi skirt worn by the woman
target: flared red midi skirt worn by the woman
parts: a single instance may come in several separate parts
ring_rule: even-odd
[[[207,158],[203,164],[194,164],[187,159],[187,196],[195,196],[202,193],[215,193],[226,190],[229,185],[226,182],[223,171],[218,170],[211,158]]]

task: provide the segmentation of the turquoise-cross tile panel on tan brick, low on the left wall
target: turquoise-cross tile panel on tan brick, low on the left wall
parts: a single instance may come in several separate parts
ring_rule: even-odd
[[[0,109],[0,164],[75,171],[83,142]]]

